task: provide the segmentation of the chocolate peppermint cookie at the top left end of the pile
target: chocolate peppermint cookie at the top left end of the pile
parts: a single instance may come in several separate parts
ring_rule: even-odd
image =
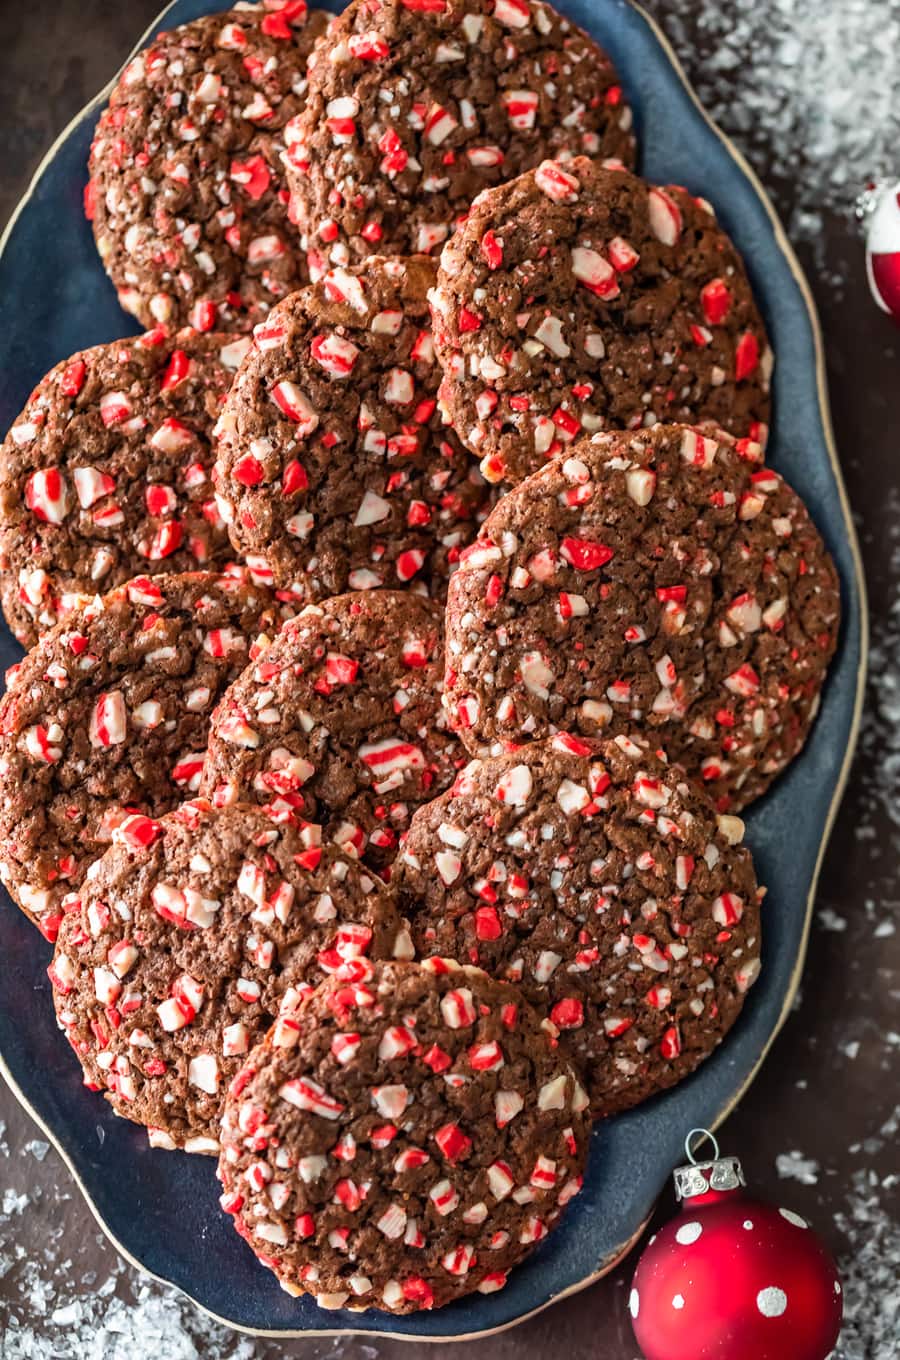
[[[122,71],[84,211],[143,325],[249,329],[306,282],[281,160],[328,19],[305,0],[235,5],[158,34]]]

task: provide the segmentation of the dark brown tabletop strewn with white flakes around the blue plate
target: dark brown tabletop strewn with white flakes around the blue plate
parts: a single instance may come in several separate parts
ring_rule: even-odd
[[[839,1360],[900,1356],[900,332],[869,299],[852,199],[900,174],[900,0],[658,0],[722,128],[769,188],[808,269],[873,616],[861,749],[823,870],[802,994],[721,1132],[755,1191],[810,1219],[842,1261]],[[0,0],[0,220],[39,156],[106,83],[158,0]],[[798,816],[802,809],[798,809]],[[27,1021],[26,1021],[27,1023]],[[661,1216],[672,1210],[666,1198]],[[446,1360],[636,1360],[634,1259]],[[118,1261],[65,1168],[0,1087],[0,1356],[60,1360],[420,1360],[401,1342],[284,1346],[209,1323]]]

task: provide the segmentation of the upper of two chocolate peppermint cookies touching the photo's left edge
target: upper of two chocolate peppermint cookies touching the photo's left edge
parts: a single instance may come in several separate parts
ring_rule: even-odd
[[[38,384],[0,449],[0,590],[23,646],[140,573],[228,560],[211,435],[249,344],[158,328]]]

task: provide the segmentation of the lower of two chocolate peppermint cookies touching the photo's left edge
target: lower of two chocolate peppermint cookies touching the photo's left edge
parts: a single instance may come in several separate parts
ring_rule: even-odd
[[[122,817],[196,792],[209,715],[281,617],[237,568],[136,577],[7,672],[0,880],[48,940]]]

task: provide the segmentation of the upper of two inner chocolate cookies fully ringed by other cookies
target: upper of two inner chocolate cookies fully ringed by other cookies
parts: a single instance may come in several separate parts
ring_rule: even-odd
[[[235,549],[302,600],[373,586],[443,597],[489,488],[436,412],[436,265],[370,260],[257,328],[219,423]]]

